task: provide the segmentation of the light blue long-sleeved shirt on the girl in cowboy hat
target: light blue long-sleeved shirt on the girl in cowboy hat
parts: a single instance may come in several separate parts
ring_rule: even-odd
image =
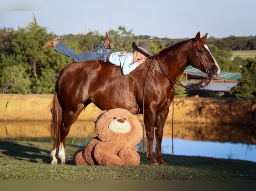
[[[109,62],[115,66],[120,66],[123,75],[129,74],[139,66],[138,62],[131,64],[133,62],[133,53],[129,53],[125,56],[118,55],[120,55],[120,52],[113,52],[109,57]]]

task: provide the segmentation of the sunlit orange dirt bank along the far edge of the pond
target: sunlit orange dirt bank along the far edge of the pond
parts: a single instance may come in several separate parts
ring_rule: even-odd
[[[0,121],[50,121],[52,97],[0,94]],[[100,111],[90,104],[78,120],[94,120]],[[172,105],[167,122],[171,119]],[[255,125],[256,98],[174,98],[174,122]]]

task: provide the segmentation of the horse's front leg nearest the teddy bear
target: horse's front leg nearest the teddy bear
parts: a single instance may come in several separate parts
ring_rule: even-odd
[[[146,135],[147,135],[147,159],[150,161],[151,165],[156,165],[158,164],[157,161],[154,158],[153,155],[153,140],[154,140],[154,116],[155,113],[152,112],[152,109],[146,110],[145,109],[145,118],[144,118],[144,123],[145,123],[145,129],[146,129]]]

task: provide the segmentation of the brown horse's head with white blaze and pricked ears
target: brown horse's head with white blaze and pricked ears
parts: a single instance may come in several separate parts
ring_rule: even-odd
[[[213,57],[210,48],[205,43],[207,34],[200,38],[200,32],[198,32],[196,37],[192,39],[193,55],[189,57],[189,64],[209,74],[210,78],[216,78],[220,75],[221,69]]]

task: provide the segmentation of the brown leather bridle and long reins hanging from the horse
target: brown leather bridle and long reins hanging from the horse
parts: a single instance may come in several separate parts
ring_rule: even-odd
[[[195,38],[194,38],[194,39],[195,39]],[[143,93],[142,93],[142,118],[143,118],[143,127],[142,127],[142,128],[143,128],[143,129],[142,129],[142,151],[143,151],[143,154],[144,154],[144,127],[145,127],[145,124],[144,124],[144,116],[145,116],[145,112],[144,112],[144,111],[145,111],[145,101],[144,101],[144,100],[145,100],[145,84],[146,84],[146,78],[147,78],[147,75],[148,75],[150,66],[151,66],[153,60],[155,59],[155,57],[157,57],[157,63],[158,63],[158,66],[159,66],[160,70],[161,70],[162,73],[165,75],[165,77],[170,81],[171,87],[172,87],[173,91],[175,91],[174,88],[173,88],[173,84],[177,84],[178,86],[181,86],[181,87],[186,88],[186,89],[188,89],[188,90],[199,90],[199,89],[201,89],[201,88],[206,87],[206,86],[211,82],[211,78],[208,78],[208,74],[209,74],[208,68],[206,67],[206,65],[203,63],[202,59],[201,59],[200,56],[198,55],[198,52],[197,52],[196,47],[195,47],[199,41],[198,41],[196,44],[194,44],[194,39],[191,39],[191,40],[192,40],[192,47],[193,47],[193,49],[194,49],[194,51],[195,51],[195,56],[199,59],[200,64],[201,64],[202,67],[205,68],[205,70],[206,70],[206,78],[203,79],[203,80],[201,81],[201,83],[199,83],[199,84],[197,84],[197,85],[195,85],[195,86],[183,86],[179,81],[177,81],[178,84],[177,84],[176,82],[172,81],[172,80],[168,77],[168,75],[164,72],[164,70],[162,69],[162,67],[161,67],[161,65],[160,65],[160,62],[159,62],[159,53],[157,53],[157,54],[154,55],[153,59],[151,60],[149,66],[148,66],[148,70],[147,70],[147,73],[146,73],[146,76],[145,76],[145,79],[144,79]],[[206,82],[206,81],[208,81],[208,82]],[[202,85],[203,83],[206,83],[206,84],[203,85],[203,86],[200,86],[200,85]],[[173,154],[173,114],[174,114],[173,108],[174,108],[174,101],[172,100],[172,154]]]

